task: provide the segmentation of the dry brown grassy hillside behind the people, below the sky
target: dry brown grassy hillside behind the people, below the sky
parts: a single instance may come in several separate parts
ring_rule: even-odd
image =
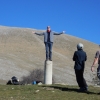
[[[29,28],[0,26],[0,83],[5,84],[12,76],[21,79],[35,68],[44,69],[45,47],[43,36],[32,33],[43,32]],[[85,33],[84,33],[85,34]],[[89,41],[63,34],[55,36],[53,46],[53,75],[57,83],[77,84],[72,57],[77,43],[84,44],[87,53],[85,78],[91,84],[93,73],[90,71],[98,45]]]

